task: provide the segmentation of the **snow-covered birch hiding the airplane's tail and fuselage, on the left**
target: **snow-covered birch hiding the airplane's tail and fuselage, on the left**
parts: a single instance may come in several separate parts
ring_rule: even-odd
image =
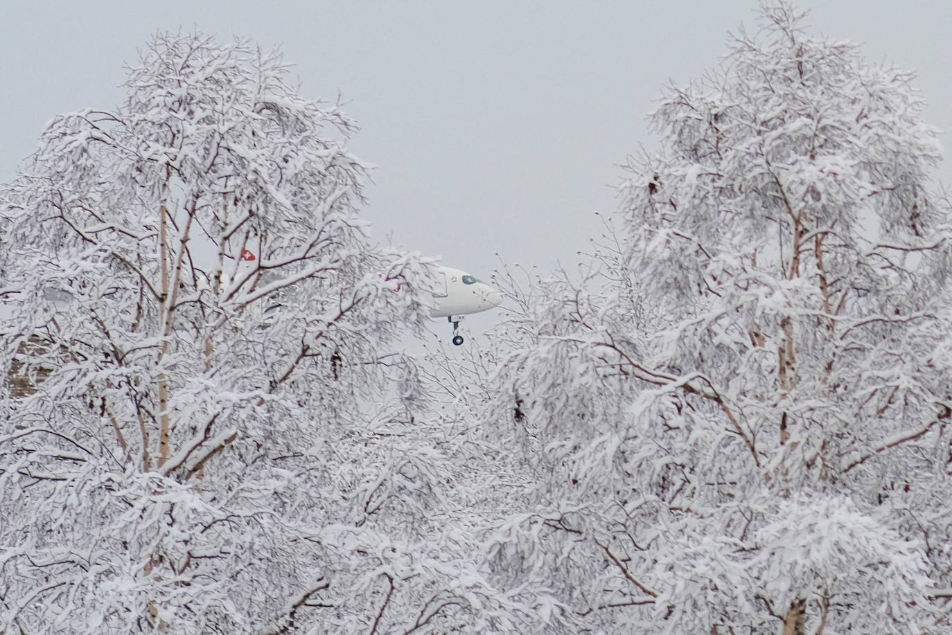
[[[161,34],[0,190],[0,632],[514,619],[392,353],[431,264],[370,242],[354,123],[286,72]]]

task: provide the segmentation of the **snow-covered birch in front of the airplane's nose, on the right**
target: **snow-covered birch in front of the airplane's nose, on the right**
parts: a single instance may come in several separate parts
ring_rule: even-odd
[[[664,93],[619,229],[499,334],[539,632],[947,632],[952,246],[909,73],[764,5]],[[511,278],[510,278],[511,280]]]

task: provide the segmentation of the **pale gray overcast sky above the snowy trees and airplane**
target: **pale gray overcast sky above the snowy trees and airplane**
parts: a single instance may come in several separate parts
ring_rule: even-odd
[[[816,31],[919,73],[927,119],[952,129],[952,2],[807,0]],[[628,154],[653,145],[645,114],[753,30],[754,0],[612,2],[7,3],[0,23],[0,181],[52,115],[112,108],[124,64],[157,30],[281,46],[301,91],[338,92],[378,166],[374,235],[487,276],[506,263],[572,266]],[[952,147],[946,136],[946,147]],[[952,182],[943,165],[942,181]]]

